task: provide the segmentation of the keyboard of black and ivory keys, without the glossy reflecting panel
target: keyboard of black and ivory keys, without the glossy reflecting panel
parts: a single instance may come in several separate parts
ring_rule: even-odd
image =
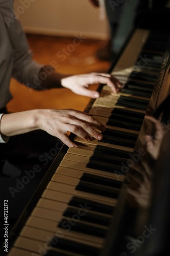
[[[103,86],[89,111],[106,126],[103,140],[75,137],[79,148],[64,155],[9,256],[100,254],[125,174],[142,154],[135,143],[166,45],[166,35],[134,32],[111,72],[123,90]]]

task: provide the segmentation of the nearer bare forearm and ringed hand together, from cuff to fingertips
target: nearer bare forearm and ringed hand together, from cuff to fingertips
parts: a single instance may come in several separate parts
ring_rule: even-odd
[[[74,133],[86,141],[90,141],[91,137],[101,140],[103,136],[99,131],[105,131],[105,126],[91,115],[73,110],[30,110],[5,114],[1,119],[1,135],[4,136],[10,137],[38,129],[58,137],[67,146],[77,147],[69,140],[67,132]]]

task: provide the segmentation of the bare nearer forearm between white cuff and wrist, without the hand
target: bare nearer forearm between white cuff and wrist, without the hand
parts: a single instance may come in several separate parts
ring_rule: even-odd
[[[14,136],[38,129],[37,110],[5,114],[1,120],[1,134]]]

